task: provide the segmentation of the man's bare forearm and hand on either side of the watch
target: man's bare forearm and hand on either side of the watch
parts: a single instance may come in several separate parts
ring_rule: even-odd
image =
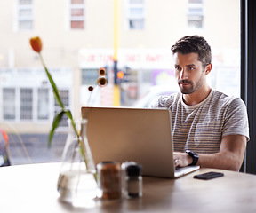
[[[216,154],[198,154],[196,165],[206,168],[222,170],[236,170],[241,168],[247,144],[245,136],[229,135],[221,139],[220,152]],[[192,162],[192,157],[186,153],[173,153],[175,166],[184,167]]]

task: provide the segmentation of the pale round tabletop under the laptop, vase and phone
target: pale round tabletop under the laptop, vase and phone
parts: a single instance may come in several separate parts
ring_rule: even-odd
[[[179,179],[143,177],[143,197],[99,201],[92,209],[61,202],[56,185],[60,163],[0,168],[0,212],[256,212],[256,176],[224,172],[224,177],[198,180],[200,169]]]

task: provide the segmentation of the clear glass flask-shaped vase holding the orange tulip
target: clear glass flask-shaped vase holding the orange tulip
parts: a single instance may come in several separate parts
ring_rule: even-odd
[[[68,138],[62,154],[58,192],[60,200],[73,206],[92,205],[99,193],[97,175],[86,137],[87,120],[76,122],[77,136],[69,121]]]

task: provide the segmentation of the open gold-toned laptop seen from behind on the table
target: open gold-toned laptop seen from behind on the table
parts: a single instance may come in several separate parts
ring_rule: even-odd
[[[175,169],[169,109],[82,106],[95,164],[137,162],[142,175],[181,177],[199,166]]]

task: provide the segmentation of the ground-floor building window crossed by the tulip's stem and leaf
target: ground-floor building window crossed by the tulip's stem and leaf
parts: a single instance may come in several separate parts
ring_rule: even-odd
[[[63,103],[63,105],[66,108],[69,108],[69,91],[68,90],[59,90],[60,93],[60,99]],[[55,114],[57,114],[60,110],[60,106],[58,104],[58,102],[56,101],[56,99],[54,99],[54,112]],[[63,115],[61,121],[60,121],[60,126],[68,126],[68,117],[66,114]]]

